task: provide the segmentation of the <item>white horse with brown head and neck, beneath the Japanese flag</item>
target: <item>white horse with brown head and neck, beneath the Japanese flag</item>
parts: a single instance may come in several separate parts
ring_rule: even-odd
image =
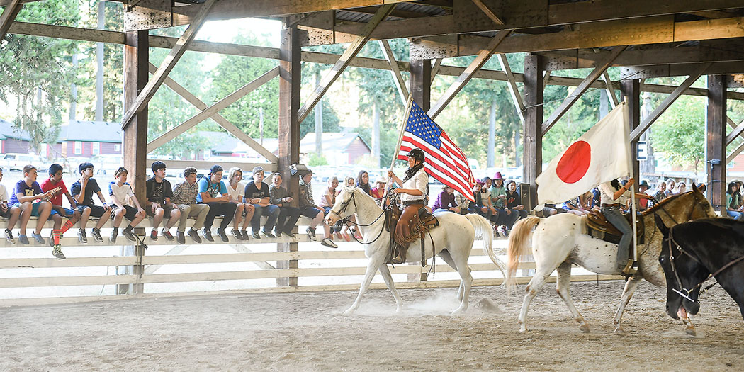
[[[666,225],[676,225],[690,219],[716,217],[705,196],[693,185],[693,190],[679,196],[664,199],[659,205],[642,214],[644,222],[644,244],[638,244],[638,272],[627,280],[620,298],[618,312],[615,313],[615,332],[622,333],[620,320],[626,305],[635,292],[641,279],[655,286],[665,286],[664,272],[658,263],[661,253],[661,233],[654,222],[654,215],[664,220]],[[527,217],[514,225],[509,236],[509,269],[507,285],[514,286],[514,275],[520,257],[525,254],[530,231],[532,233],[532,254],[535,257],[535,275],[527,284],[522,310],[519,312],[519,332],[527,331],[527,310],[530,301],[545,285],[545,280],[554,270],[558,270],[557,292],[563,299],[580,330],[589,332],[589,325],[571,301],[568,284],[571,282],[571,264],[576,264],[591,272],[619,275],[617,268],[618,246],[595,239],[586,234],[586,219],[574,214],[557,214],[548,218]],[[688,328],[688,333],[690,329]]]

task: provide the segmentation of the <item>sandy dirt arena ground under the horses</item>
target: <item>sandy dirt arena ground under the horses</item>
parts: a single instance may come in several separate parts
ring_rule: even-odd
[[[522,291],[524,286],[520,286]],[[581,333],[546,285],[530,332],[517,333],[520,298],[501,287],[148,298],[0,310],[0,371],[744,371],[744,322],[716,287],[693,318],[698,336],[664,314],[664,292],[641,283],[612,333],[622,283],[574,283],[591,333]],[[496,308],[484,306],[484,298]]]

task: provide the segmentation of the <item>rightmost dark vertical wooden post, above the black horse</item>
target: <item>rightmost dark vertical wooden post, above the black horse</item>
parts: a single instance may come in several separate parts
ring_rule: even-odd
[[[711,205],[725,216],[726,193],[726,76],[708,75],[708,116],[705,125],[705,167]]]

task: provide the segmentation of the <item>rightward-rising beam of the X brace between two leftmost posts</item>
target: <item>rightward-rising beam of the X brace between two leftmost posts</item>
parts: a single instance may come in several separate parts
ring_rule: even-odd
[[[269,80],[272,80],[273,78],[278,76],[279,67],[277,66],[275,68],[272,68],[269,72],[266,72],[266,74],[263,74],[250,83],[246,84],[245,86],[242,86],[237,91],[232,92],[227,97],[222,98],[222,100],[219,100],[212,106],[203,109],[202,112],[199,112],[198,114],[192,116],[187,121],[184,121],[182,124],[179,124],[173,127],[173,129],[170,129],[169,131],[163,133],[162,135],[160,135],[160,137],[155,138],[153,141],[150,141],[150,143],[147,144],[147,153],[150,153],[158,147],[161,147],[162,145],[167,143],[167,141],[176,138],[176,136],[182,134],[183,132],[186,132],[188,129],[193,128],[194,126],[196,126],[196,124],[207,120],[207,118],[211,118],[220,110],[224,109],[227,106],[230,106],[235,101],[245,97],[246,94],[253,92],[254,90],[260,88],[260,86],[263,86],[263,84],[269,82]]]

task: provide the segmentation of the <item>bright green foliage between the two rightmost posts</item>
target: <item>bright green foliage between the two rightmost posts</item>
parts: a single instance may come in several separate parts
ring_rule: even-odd
[[[672,164],[698,173],[705,161],[705,103],[682,96],[658,118],[651,141]]]

